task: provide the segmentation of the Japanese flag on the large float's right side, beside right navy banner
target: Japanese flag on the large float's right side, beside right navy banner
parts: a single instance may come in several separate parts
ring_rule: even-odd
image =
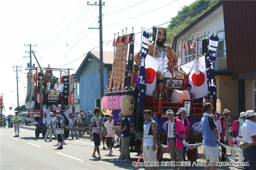
[[[208,94],[206,66],[204,55],[199,57],[199,62],[196,59],[195,62],[191,61],[187,64],[180,66],[187,74],[194,65],[189,75],[189,84],[192,86],[191,93],[195,95],[195,99],[204,97]]]

